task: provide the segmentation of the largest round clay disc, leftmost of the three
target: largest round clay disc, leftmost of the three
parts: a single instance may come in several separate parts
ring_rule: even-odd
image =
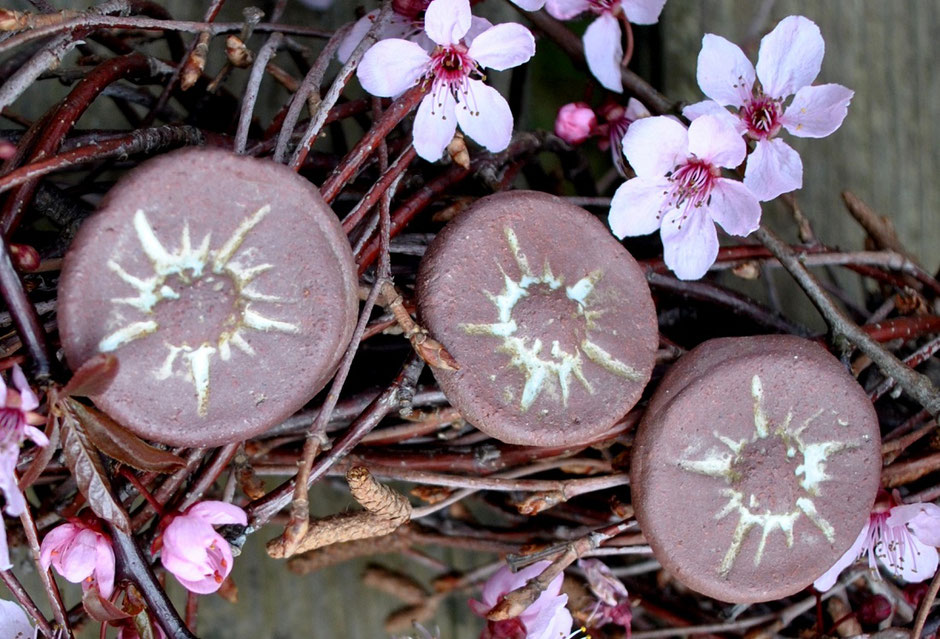
[[[274,162],[185,149],[128,173],[65,258],[59,330],[72,368],[113,353],[94,401],[148,439],[257,435],[332,376],[356,321],[336,216]]]

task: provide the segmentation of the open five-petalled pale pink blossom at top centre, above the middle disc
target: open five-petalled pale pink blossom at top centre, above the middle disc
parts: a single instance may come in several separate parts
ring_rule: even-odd
[[[501,71],[526,62],[535,53],[535,38],[515,23],[499,24],[468,35],[469,0],[434,0],[424,15],[424,30],[436,44],[430,55],[408,40],[377,42],[363,56],[358,76],[362,87],[380,97],[395,97],[427,83],[414,122],[418,155],[440,159],[457,125],[490,151],[502,151],[512,136],[512,112],[499,92],[483,83],[483,68]]]

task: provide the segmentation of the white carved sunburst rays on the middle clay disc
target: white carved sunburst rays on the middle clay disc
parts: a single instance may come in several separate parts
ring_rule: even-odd
[[[552,272],[548,260],[545,261],[542,272],[535,273],[519,247],[515,232],[508,226],[504,227],[503,232],[519,268],[519,278],[511,278],[500,266],[503,290],[498,294],[486,292],[496,307],[497,320],[490,324],[465,323],[460,327],[471,335],[488,335],[502,340],[499,350],[509,355],[509,365],[521,370],[525,376],[520,408],[523,411],[528,410],[546,384],[557,385],[562,404],[567,406],[572,378],[588,393],[593,394],[594,389],[582,370],[582,355],[615,375],[630,381],[642,381],[644,377],[639,371],[614,358],[590,339],[589,333],[597,329],[596,320],[603,312],[592,308],[592,294],[602,277],[602,272],[593,271],[571,286],[565,286],[564,278]],[[566,297],[575,303],[577,318],[583,322],[583,339],[572,352],[565,351],[558,340],[553,340],[546,348],[540,338],[518,334],[519,325],[513,318],[513,310],[521,300],[534,294],[533,289],[536,287],[544,287],[550,291],[564,287]]]

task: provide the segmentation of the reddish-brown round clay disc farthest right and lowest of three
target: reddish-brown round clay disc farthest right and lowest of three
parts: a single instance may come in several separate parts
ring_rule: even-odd
[[[637,431],[636,518],[689,588],[735,603],[779,599],[858,537],[880,451],[871,402],[821,346],[711,340],[663,378]]]

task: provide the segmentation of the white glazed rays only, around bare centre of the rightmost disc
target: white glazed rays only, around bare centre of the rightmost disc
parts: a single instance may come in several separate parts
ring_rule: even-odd
[[[816,510],[814,498],[821,494],[821,486],[831,477],[826,473],[826,463],[831,455],[840,451],[854,448],[854,444],[840,441],[824,441],[807,444],[803,441],[803,433],[809,425],[824,412],[820,409],[806,419],[798,428],[791,430],[793,421],[792,408],[787,412],[779,425],[772,423],[764,411],[764,389],[760,377],[754,375],[751,379],[751,396],[754,399],[754,433],[750,438],[735,441],[717,431],[714,436],[727,447],[727,450],[712,449],[709,454],[700,460],[680,460],[679,467],[689,472],[707,475],[722,479],[727,487],[721,494],[728,498],[724,507],[715,514],[720,520],[728,515],[737,513],[738,523],[731,538],[728,551],[718,568],[720,576],[725,577],[734,566],[734,562],[741,552],[741,547],[753,528],[761,529],[761,539],[754,554],[754,565],[760,564],[767,538],[776,529],[784,535],[788,548],[793,546],[793,527],[796,521],[807,517],[830,543],[834,541],[835,531]],[[846,425],[845,422],[839,421]],[[742,490],[739,483],[742,479],[739,471],[742,462],[742,452],[750,444],[761,440],[770,441],[777,438],[784,445],[787,458],[799,462],[794,468],[794,478],[780,477],[774,481],[781,483],[796,481],[798,489],[793,503],[785,509],[773,509],[761,504],[757,495]],[[799,455],[800,458],[796,458]]]

